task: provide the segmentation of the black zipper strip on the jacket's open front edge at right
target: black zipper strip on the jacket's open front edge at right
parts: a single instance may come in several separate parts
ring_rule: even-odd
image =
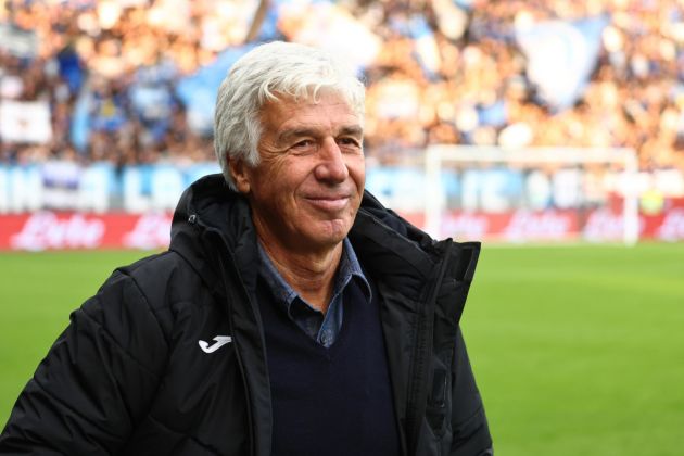
[[[423,312],[419,314],[416,330],[416,344],[410,363],[410,373],[408,380],[408,400],[406,406],[406,429],[407,436],[410,439],[409,455],[417,451],[418,436],[420,435],[420,427],[422,417],[427,406],[428,377],[430,375],[430,365],[432,359],[432,339],[434,332],[434,306],[436,296],[446,274],[448,264],[448,253],[452,248],[451,240],[446,241],[446,248],[443,252],[443,259],[440,264],[438,276],[430,293],[430,297],[423,306]]]

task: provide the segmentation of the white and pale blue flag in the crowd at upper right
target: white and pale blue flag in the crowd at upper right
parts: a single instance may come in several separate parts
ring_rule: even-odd
[[[516,30],[528,58],[528,78],[540,101],[558,112],[571,107],[594,71],[608,16],[548,21]]]

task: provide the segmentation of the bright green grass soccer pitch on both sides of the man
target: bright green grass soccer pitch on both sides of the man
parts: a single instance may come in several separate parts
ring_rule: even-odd
[[[0,423],[141,252],[0,253]],[[461,326],[497,454],[684,454],[684,244],[484,245]]]

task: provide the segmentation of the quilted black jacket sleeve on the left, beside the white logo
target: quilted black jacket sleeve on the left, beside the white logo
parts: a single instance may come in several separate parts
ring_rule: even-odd
[[[134,279],[114,273],[22,391],[0,454],[116,454],[154,396],[167,342]]]

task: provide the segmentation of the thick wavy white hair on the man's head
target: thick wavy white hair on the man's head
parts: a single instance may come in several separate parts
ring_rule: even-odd
[[[324,50],[274,41],[254,48],[232,65],[218,89],[214,114],[214,151],[231,188],[229,160],[258,164],[264,104],[279,96],[316,102],[321,90],[341,96],[363,124],[363,83],[352,67]]]

